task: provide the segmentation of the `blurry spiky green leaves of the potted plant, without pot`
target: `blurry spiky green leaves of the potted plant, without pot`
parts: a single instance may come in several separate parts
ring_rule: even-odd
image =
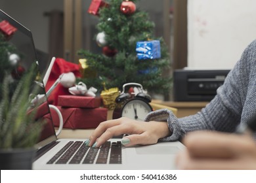
[[[3,79],[2,99],[0,103],[0,148],[31,148],[41,134],[44,122],[35,121],[37,107],[28,112],[30,108],[30,93],[38,93],[39,86],[31,91],[37,64],[25,73],[18,82],[16,90],[10,99],[9,80]]]

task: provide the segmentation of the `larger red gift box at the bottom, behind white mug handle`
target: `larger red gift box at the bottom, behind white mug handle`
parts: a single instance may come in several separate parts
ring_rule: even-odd
[[[107,108],[66,108],[57,107],[63,117],[63,127],[70,129],[96,128],[101,122],[107,120]],[[51,110],[54,126],[59,126],[58,115]],[[49,116],[47,116],[49,118]]]

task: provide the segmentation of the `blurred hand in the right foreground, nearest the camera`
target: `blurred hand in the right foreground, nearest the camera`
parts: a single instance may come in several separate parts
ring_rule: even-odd
[[[183,142],[179,169],[256,169],[256,144],[247,135],[195,131]]]

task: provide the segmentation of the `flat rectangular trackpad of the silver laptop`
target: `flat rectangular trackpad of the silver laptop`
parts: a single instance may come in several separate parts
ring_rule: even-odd
[[[140,146],[135,150],[137,154],[177,154],[181,151],[175,146]]]

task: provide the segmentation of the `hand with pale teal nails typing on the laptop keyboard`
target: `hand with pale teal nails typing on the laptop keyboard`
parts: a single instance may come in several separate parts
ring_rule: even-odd
[[[129,134],[122,139],[125,146],[155,144],[158,139],[170,135],[167,122],[140,122],[119,118],[100,123],[89,137],[87,145],[99,147],[114,136]]]

